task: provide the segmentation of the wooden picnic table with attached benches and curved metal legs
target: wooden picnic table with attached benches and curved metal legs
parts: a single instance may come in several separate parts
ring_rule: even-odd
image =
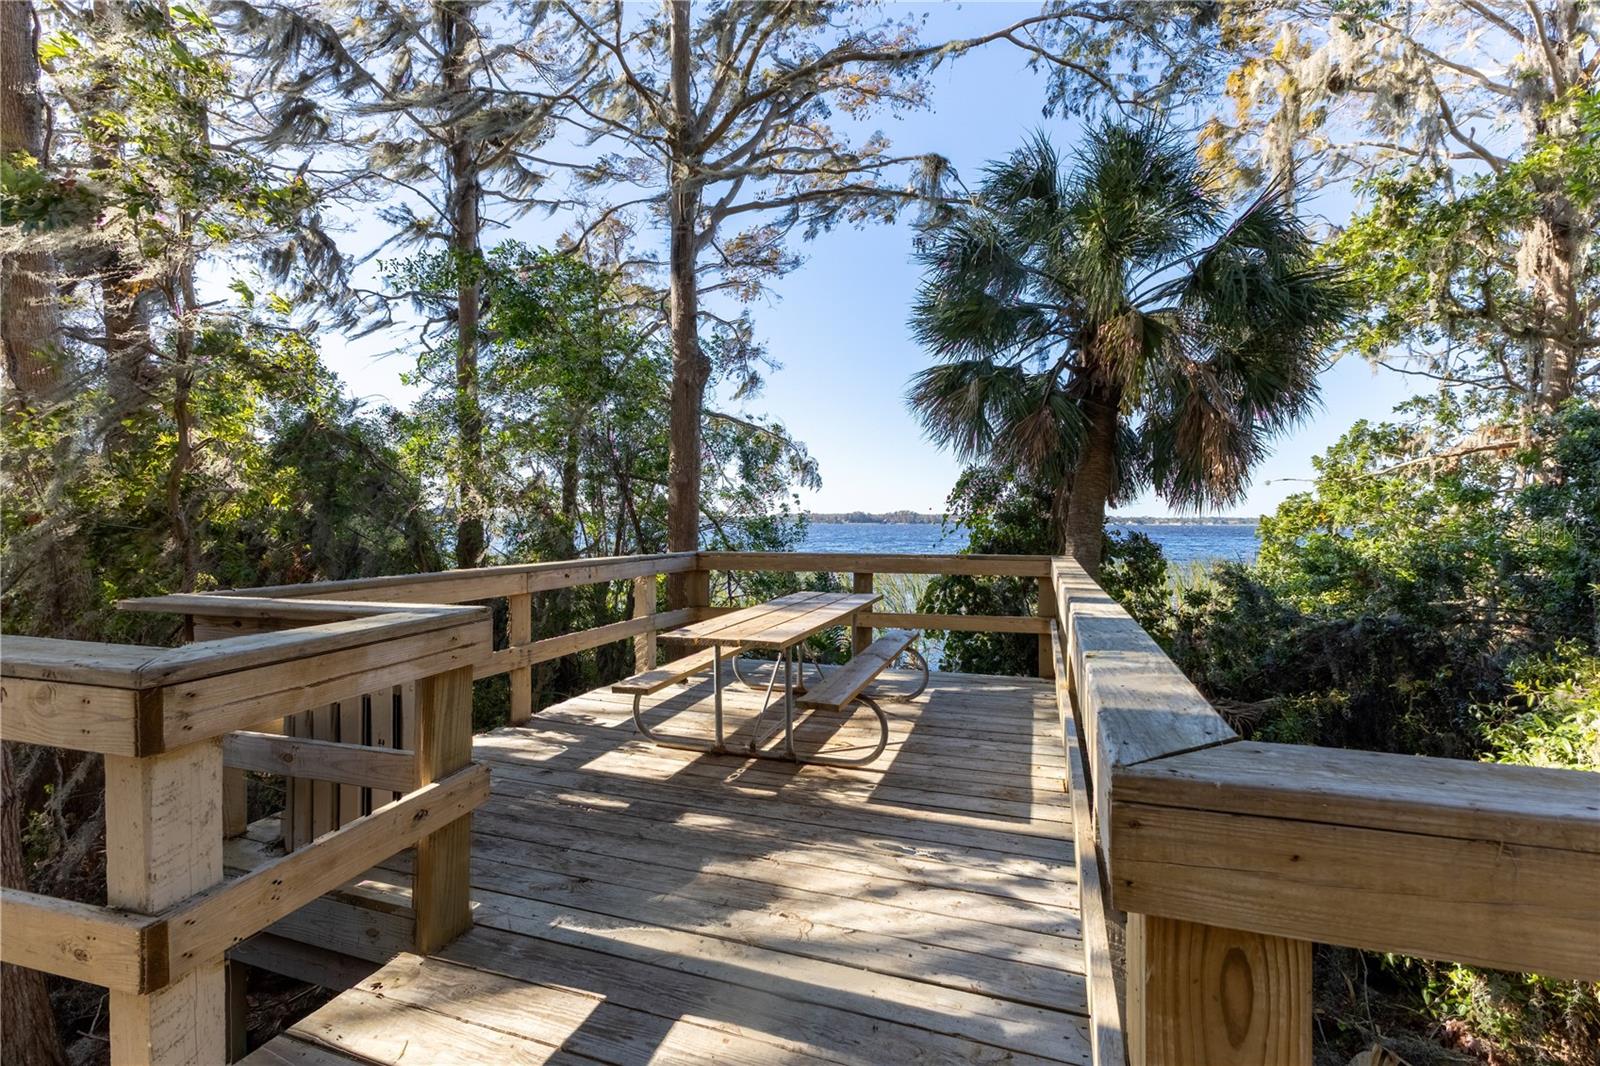
[[[822,762],[834,765],[861,765],[872,762],[888,744],[888,717],[883,714],[883,709],[869,695],[866,695],[864,690],[880,672],[883,672],[885,667],[888,667],[890,663],[910,647],[917,634],[890,631],[883,639],[874,642],[874,645],[840,667],[832,677],[826,679],[816,690],[806,693],[805,699],[798,699],[798,695],[805,691],[803,677],[800,677],[800,671],[803,669],[800,650],[806,637],[834,626],[853,624],[856,615],[867,610],[880,599],[882,595],[875,592],[790,592],[789,595],[781,595],[765,603],[757,603],[754,607],[746,607],[726,615],[718,615],[717,618],[707,618],[704,621],[683,626],[682,629],[664,632],[662,637],[666,639],[706,645],[707,650],[645,671],[643,674],[635,674],[634,677],[613,685],[613,690],[634,695],[634,723],[638,731],[651,741],[674,747],[690,747],[696,751],[725,754],[728,751],[728,744],[723,731],[722,661],[730,656],[738,656],[739,651],[760,648],[776,651],[778,663],[774,663],[771,679],[766,682],[766,699],[763,701],[762,712],[757,717],[755,733],[749,741],[747,754],[766,759]],[[917,661],[922,663],[926,675],[926,663],[922,661],[920,655],[917,656]],[[640,712],[642,696],[659,691],[661,688],[666,688],[677,680],[683,680],[690,674],[707,666],[712,672],[714,738],[710,741],[666,736],[645,725]],[[766,728],[766,715],[768,711],[773,709],[773,698],[776,695],[779,677],[782,677],[784,682],[782,698],[778,701],[778,706],[782,711],[781,722]],[[917,691],[920,691],[920,687]],[[795,751],[794,719],[797,706],[840,711],[850,703],[861,703],[877,715],[878,744],[872,754],[866,757],[838,759],[821,754],[802,755]],[[766,751],[765,744],[779,730],[782,730],[784,735],[781,754]]]

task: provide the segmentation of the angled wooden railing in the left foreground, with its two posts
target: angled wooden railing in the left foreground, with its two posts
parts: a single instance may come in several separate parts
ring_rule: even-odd
[[[299,627],[181,648],[5,637],[0,738],[106,757],[107,906],[5,890],[3,959],[110,989],[115,1063],[227,1061],[226,952],[408,847],[416,948],[470,925],[467,815],[488,797],[488,768],[470,762],[470,685],[490,655],[488,611],[237,608],[256,627]],[[414,685],[414,751],[330,752],[254,731],[397,683]],[[224,768],[286,762],[402,795],[224,880]]]

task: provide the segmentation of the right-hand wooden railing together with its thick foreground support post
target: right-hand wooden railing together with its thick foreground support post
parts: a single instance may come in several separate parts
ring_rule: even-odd
[[[1053,571],[1098,1064],[1310,1063],[1312,941],[1600,978],[1600,778],[1243,741]]]

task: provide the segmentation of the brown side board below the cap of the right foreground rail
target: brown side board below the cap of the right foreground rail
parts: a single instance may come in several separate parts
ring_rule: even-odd
[[[1112,896],[1125,911],[1600,978],[1594,852],[1112,797]]]

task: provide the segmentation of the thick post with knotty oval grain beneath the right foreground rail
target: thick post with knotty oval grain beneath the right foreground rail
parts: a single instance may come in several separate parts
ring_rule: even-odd
[[[1128,916],[1130,1066],[1310,1066],[1310,944]]]

